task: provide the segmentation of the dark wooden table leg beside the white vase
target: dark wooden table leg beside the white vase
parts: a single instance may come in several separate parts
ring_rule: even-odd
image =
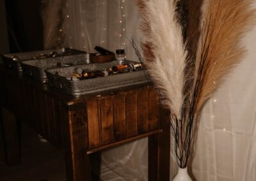
[[[162,133],[148,137],[148,180],[170,180],[170,123],[169,113],[160,112]]]

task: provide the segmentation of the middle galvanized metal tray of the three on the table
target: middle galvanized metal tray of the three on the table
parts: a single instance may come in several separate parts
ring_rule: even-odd
[[[86,54],[22,61],[20,64],[26,75],[32,76],[35,80],[44,83],[47,82],[45,69],[86,64]]]

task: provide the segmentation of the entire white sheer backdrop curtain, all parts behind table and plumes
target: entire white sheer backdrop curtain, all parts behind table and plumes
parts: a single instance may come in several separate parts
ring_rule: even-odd
[[[129,41],[138,38],[139,15],[132,0],[67,0],[65,47],[93,52],[96,45],[124,48],[137,61]],[[191,164],[201,180],[256,180],[256,28],[247,34],[248,54],[202,110]],[[139,47],[139,46],[138,46]],[[173,154],[171,175],[175,168]],[[102,180],[148,180],[147,139],[102,154]]]

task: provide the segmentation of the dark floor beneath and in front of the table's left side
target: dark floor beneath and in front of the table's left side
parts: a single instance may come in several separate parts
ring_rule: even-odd
[[[3,139],[0,138],[1,181],[63,181],[65,178],[64,153],[43,143],[37,134],[22,126],[22,157],[16,166],[6,166],[3,155]]]

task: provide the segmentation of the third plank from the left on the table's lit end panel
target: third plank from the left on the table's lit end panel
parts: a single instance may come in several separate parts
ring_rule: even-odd
[[[126,137],[125,95],[114,97],[114,134],[115,140]]]

